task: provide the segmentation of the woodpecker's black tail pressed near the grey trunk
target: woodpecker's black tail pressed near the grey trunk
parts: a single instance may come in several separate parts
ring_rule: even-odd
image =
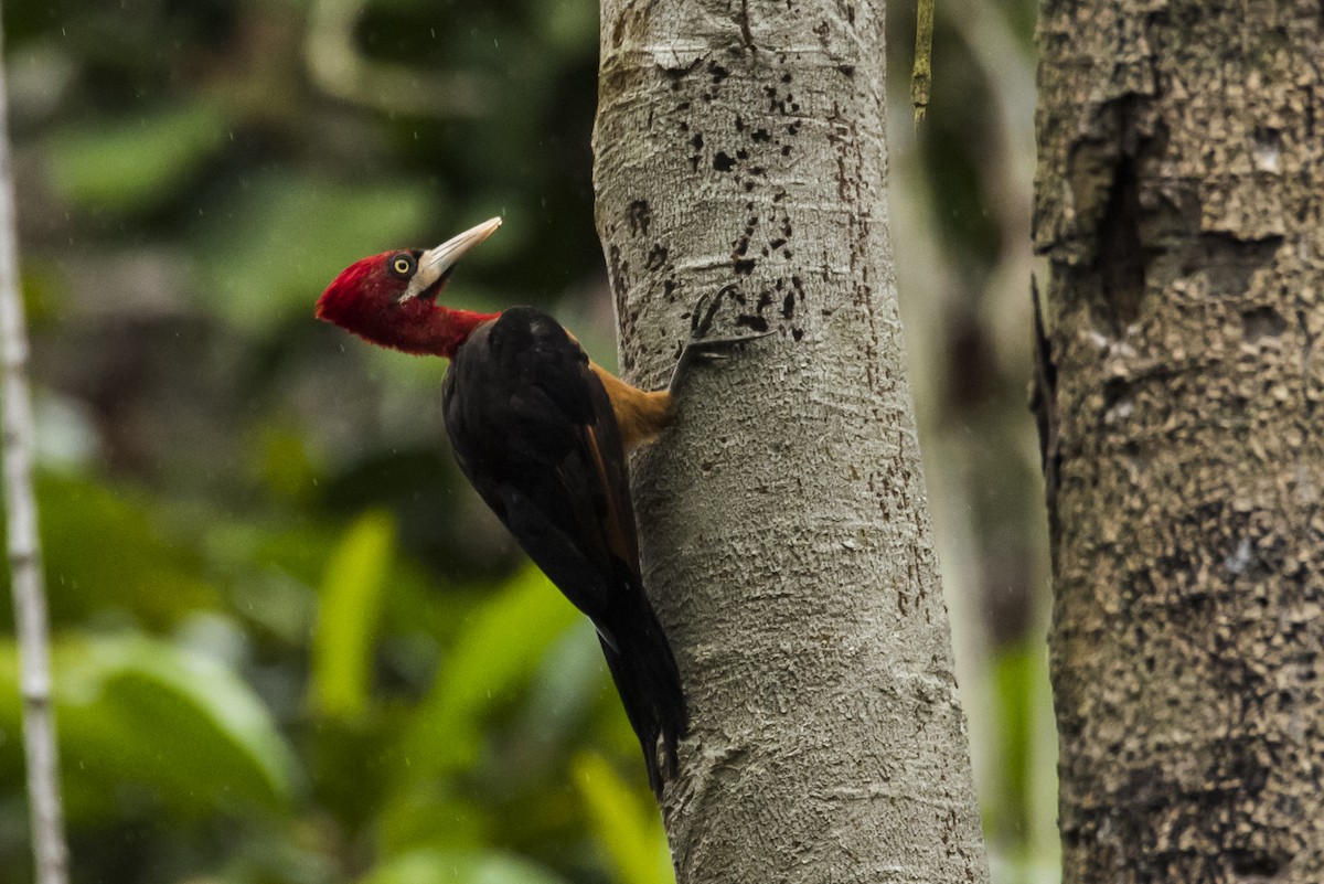
[[[625,715],[643,748],[649,785],[661,801],[663,770],[666,777],[675,777],[677,745],[688,732],[690,712],[681,689],[681,674],[675,668],[671,644],[653,609],[646,599],[642,605],[622,607],[625,610],[614,611],[614,622],[600,625],[606,627],[605,633],[620,651],[602,638],[601,629],[598,642],[606,656],[606,668],[616,682],[616,691],[621,695],[621,704],[625,705]]]

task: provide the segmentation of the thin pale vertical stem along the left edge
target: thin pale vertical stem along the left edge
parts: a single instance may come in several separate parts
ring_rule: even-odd
[[[3,33],[0,33],[3,44]],[[28,757],[32,851],[40,884],[69,880],[56,725],[50,703],[50,639],[32,490],[33,420],[28,390],[28,333],[19,291],[19,245],[4,57],[0,52],[0,361],[4,390],[4,486],[9,569],[19,630],[23,734]]]

